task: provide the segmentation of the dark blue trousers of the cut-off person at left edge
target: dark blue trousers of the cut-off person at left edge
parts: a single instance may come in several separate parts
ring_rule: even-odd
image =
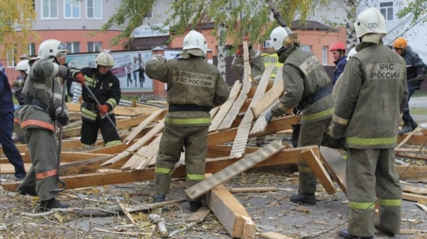
[[[13,167],[15,167],[15,177],[22,178],[26,176],[26,172],[23,167],[21,154],[12,141],[12,130],[13,112],[0,114],[0,144],[3,148],[3,153]]]

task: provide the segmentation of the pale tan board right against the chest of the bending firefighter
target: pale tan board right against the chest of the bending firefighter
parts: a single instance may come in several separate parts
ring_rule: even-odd
[[[274,103],[283,92],[283,66],[279,67],[276,73],[276,78],[274,79],[274,85],[272,89],[270,89],[267,93],[265,93],[261,98],[258,98],[254,103],[250,106],[252,114],[254,117],[260,116],[262,112],[267,109],[269,105]]]

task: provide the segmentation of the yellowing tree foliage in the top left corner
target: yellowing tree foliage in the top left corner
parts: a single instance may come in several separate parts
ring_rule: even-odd
[[[38,39],[37,34],[32,31],[36,16],[33,3],[32,0],[0,1],[1,58],[8,52],[16,53],[21,49],[28,53],[29,39]]]

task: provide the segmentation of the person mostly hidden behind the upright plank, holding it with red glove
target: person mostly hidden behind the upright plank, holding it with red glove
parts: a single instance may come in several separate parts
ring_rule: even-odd
[[[249,37],[243,37],[243,41],[249,41]],[[251,66],[251,74],[254,77],[257,83],[260,82],[261,76],[263,76],[265,65],[264,65],[264,57],[261,57],[261,52],[252,47],[252,45],[248,44],[249,50],[249,65]],[[243,61],[243,44],[238,45],[236,56],[234,56],[233,62],[231,63],[231,69],[241,78],[243,79],[243,71],[245,70],[244,61]],[[256,85],[253,81],[251,81],[252,85]],[[261,146],[264,144],[265,136],[257,136],[256,137],[256,145]]]

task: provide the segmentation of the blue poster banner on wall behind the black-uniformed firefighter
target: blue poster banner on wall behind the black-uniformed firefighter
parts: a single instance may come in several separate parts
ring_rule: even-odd
[[[68,55],[66,61],[69,66],[77,69],[95,67],[95,59],[98,54]],[[145,63],[151,59],[151,51],[112,52],[111,56],[114,59],[111,72],[119,79],[123,92],[153,91],[153,80],[140,72],[140,67],[145,70]]]

